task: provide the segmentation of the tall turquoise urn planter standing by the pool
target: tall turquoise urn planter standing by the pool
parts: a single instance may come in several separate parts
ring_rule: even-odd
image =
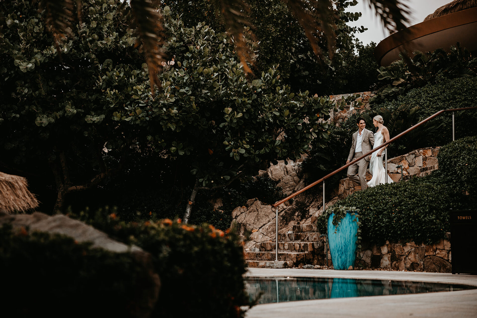
[[[330,245],[331,259],[334,269],[348,269],[354,267],[356,260],[356,239],[358,237],[358,224],[353,221],[355,215],[346,211],[337,227],[333,225],[334,213],[328,218],[328,244]],[[336,228],[336,233],[335,233]]]

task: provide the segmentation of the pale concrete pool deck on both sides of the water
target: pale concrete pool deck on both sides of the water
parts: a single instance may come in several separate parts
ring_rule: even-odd
[[[244,276],[328,277],[463,284],[477,287],[477,275],[376,270],[249,268]],[[246,318],[477,317],[477,289],[428,294],[350,297],[257,305]]]

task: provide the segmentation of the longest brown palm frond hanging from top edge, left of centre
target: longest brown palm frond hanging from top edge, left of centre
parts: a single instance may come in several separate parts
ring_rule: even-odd
[[[153,96],[154,85],[161,87],[157,74],[162,70],[161,63],[165,61],[163,49],[165,38],[161,23],[162,14],[159,11],[160,4],[160,0],[131,0],[133,23],[140,42],[139,50],[145,55]]]

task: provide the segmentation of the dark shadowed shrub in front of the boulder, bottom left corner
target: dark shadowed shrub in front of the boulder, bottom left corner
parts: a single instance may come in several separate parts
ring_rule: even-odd
[[[72,238],[0,228],[4,317],[132,317],[141,268],[131,254]],[[146,286],[146,285],[145,285]]]

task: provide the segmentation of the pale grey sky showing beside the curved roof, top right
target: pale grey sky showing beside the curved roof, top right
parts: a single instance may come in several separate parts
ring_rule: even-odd
[[[350,26],[364,26],[368,28],[363,33],[356,33],[355,36],[363,42],[364,45],[370,42],[378,44],[384,38],[389,36],[389,32],[384,30],[374,10],[368,7],[368,1],[357,0],[358,4],[354,7],[348,7],[350,12],[361,12],[363,15],[358,21],[349,22]],[[433,13],[437,8],[451,2],[452,0],[404,0],[404,3],[411,9],[411,24],[414,25],[424,21],[424,18]],[[408,25],[408,26],[410,26]]]

